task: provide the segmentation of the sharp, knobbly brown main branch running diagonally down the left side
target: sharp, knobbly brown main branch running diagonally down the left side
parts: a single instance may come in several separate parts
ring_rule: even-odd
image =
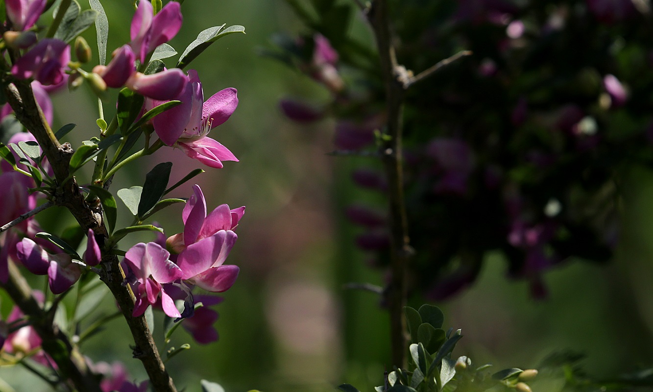
[[[14,81],[12,84],[7,85],[5,93],[8,103],[16,113],[16,118],[31,131],[43,149],[50,165],[52,165],[58,185],[52,202],[68,208],[85,230],[93,229],[96,239],[102,247],[108,238],[108,233],[104,226],[101,204],[87,203],[75,178],[69,176],[70,159],[73,153],[71,146],[68,143],[60,144],[56,139],[34,98],[29,81]],[[118,306],[125,316],[135,341],[134,357],[140,359],[143,363],[154,390],[157,392],[176,392],[172,378],[168,375],[163,361],[161,361],[159,351],[144,316],[137,318],[132,316],[134,299],[127,287],[123,285],[124,275],[121,272],[118,257],[109,254],[103,255],[100,275],[103,282],[116,297]],[[21,307],[21,309],[25,314],[31,315],[31,308],[24,309]],[[49,337],[42,336],[44,346]],[[95,391],[95,389],[84,387],[78,387],[78,389],[80,391]]]

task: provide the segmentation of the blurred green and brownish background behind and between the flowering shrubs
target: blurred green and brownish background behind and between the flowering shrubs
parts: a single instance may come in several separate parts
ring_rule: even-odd
[[[103,3],[110,20],[108,52],[129,41],[130,3]],[[455,8],[456,2],[449,3]],[[205,99],[223,88],[238,89],[238,109],[210,136],[240,162],[203,168],[206,173],[176,189],[174,196],[189,197],[197,183],[210,208],[227,203],[247,210],[227,261],[240,266],[240,276],[215,307],[219,341],[202,346],[179,329],[172,346],[189,343],[191,350],[167,363],[170,374],[187,392],[200,391],[200,379],[229,392],[332,391],[343,382],[370,391],[383,384],[383,372],[390,370],[387,314],[379,295],[344,288],[349,282],[385,282],[383,270],[369,267],[370,253],[355,246],[353,238],[361,229],[344,213],[351,203],[374,199],[351,180],[351,171],[364,158],[327,155],[334,150],[334,120],[306,125],[284,116],[279,101],[285,97],[324,102],[330,95],[309,76],[261,56],[263,49],[274,47],[272,37],[279,31],[300,35],[306,27],[281,0],[188,0],[182,11],[182,31],[169,42],[178,52],[214,25],[244,25],[246,35],[217,41],[191,65]],[[372,47],[360,14],[348,28]],[[93,29],[86,32],[89,42],[94,35]],[[77,124],[67,140],[78,145],[93,135],[96,99],[88,89],[62,91],[53,99],[54,128]],[[111,102],[105,103],[107,112]],[[179,150],[162,149],[122,171],[113,189],[142,184],[160,161],[173,161],[172,182],[200,167]],[[473,284],[446,301],[431,302],[443,309],[445,329],[462,329],[455,354],[498,369],[532,368],[550,353],[573,350],[586,355],[582,366],[588,373],[605,378],[651,365],[653,173],[644,165],[621,165],[619,180],[619,240],[606,263],[556,265],[542,276],[548,297],[533,299],[528,282],[509,278],[505,255],[486,252]],[[127,211],[123,204],[118,208],[119,217]],[[181,210],[172,206],[155,216],[168,236],[182,231]],[[40,221],[54,231],[62,221],[72,224],[65,212],[53,209]],[[126,224],[126,218],[121,222]],[[151,238],[133,235],[122,248],[141,240]],[[422,301],[412,297],[411,305]],[[108,295],[102,304],[114,306]],[[163,344],[160,316],[154,333]],[[130,342],[127,327],[115,319],[82,351],[94,361],[122,361],[135,380],[144,380],[140,363],[131,359]],[[0,376],[17,391],[35,390],[29,386],[33,380],[15,368],[0,369]]]

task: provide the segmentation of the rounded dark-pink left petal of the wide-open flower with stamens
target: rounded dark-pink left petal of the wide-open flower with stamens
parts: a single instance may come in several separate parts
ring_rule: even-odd
[[[174,106],[153,118],[154,131],[159,139],[167,146],[172,146],[182,136],[183,129],[187,127],[193,112],[193,85],[187,83],[183,91],[175,97],[182,101],[180,105]],[[160,105],[163,102],[156,103]],[[154,107],[156,105],[153,105]]]

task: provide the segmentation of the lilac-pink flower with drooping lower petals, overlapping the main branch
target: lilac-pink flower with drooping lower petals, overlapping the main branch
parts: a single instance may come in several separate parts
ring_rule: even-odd
[[[125,263],[138,281],[135,285],[134,317],[142,315],[150,304],[154,304],[159,294],[163,312],[174,318],[181,316],[174,301],[161,286],[182,277],[182,270],[168,260],[169,257],[170,253],[155,242],[140,242],[125,254]]]

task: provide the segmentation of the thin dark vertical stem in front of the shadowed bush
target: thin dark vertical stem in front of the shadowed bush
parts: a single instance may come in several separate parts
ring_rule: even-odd
[[[367,13],[374,31],[381,73],[385,82],[386,111],[388,116],[386,135],[381,147],[383,166],[389,185],[390,212],[390,269],[392,276],[386,289],[390,312],[390,346],[392,364],[405,367],[406,358],[406,265],[412,254],[408,237],[408,222],[404,205],[404,180],[402,158],[402,127],[404,114],[404,86],[398,79],[398,70],[392,37],[388,6],[385,0],[372,1]]]

